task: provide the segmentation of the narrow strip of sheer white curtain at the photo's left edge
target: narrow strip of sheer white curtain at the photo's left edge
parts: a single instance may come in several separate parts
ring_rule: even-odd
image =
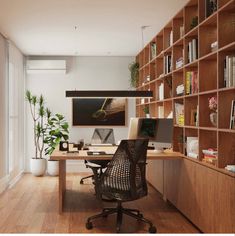
[[[4,190],[8,180],[7,170],[7,143],[8,143],[8,82],[7,82],[7,68],[8,68],[8,53],[7,41],[0,34],[0,192]]]

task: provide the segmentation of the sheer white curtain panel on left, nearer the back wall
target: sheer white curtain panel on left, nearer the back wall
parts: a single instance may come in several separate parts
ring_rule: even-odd
[[[24,56],[9,42],[9,161],[10,181],[24,169]]]

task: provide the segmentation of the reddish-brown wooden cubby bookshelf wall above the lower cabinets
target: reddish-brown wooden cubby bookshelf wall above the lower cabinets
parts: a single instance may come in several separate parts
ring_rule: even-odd
[[[227,55],[235,55],[235,0],[217,0],[217,10],[206,17],[205,0],[191,0],[173,19],[151,40],[137,55],[140,65],[140,79],[137,90],[152,90],[152,99],[136,101],[136,116],[144,117],[143,108],[149,106],[151,117],[164,118],[171,112],[174,118],[173,149],[178,149],[178,136],[198,137],[198,158],[200,162],[212,169],[235,174],[225,170],[225,166],[235,165],[235,129],[230,129],[230,112],[232,100],[235,100],[235,85],[224,86],[224,60]],[[191,26],[193,18],[198,24]],[[196,55],[189,62],[188,45],[197,43]],[[218,42],[218,47],[211,49],[211,44]],[[153,53],[153,44],[156,51]],[[171,56],[171,70],[164,69],[166,57]],[[183,65],[176,68],[176,61],[183,58]],[[187,72],[197,73],[198,90],[186,93]],[[159,86],[163,83],[164,97],[160,99]],[[184,93],[177,95],[176,88],[184,85]],[[218,100],[217,125],[210,122],[208,99],[216,96]],[[184,106],[184,124],[176,124],[175,103]],[[159,108],[160,107],[160,108]],[[198,124],[192,124],[192,110],[199,110]],[[218,158],[214,165],[202,162],[203,149],[217,148]],[[184,148],[185,150],[185,148]],[[184,151],[185,158],[187,156]]]

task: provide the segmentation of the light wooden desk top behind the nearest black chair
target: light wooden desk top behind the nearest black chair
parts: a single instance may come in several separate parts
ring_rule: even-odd
[[[117,147],[90,147],[89,151],[105,151],[114,152]],[[55,150],[50,157],[50,160],[110,160],[113,155],[87,155],[87,151],[81,150],[79,153],[67,153]],[[156,153],[153,150],[148,150],[148,160],[172,160],[181,159],[183,155],[179,152],[165,151]]]

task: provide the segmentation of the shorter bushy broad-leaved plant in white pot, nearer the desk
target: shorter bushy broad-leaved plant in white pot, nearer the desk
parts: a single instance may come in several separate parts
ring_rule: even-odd
[[[60,141],[68,140],[68,122],[63,115],[55,114],[48,119],[44,143],[47,144],[45,154],[51,155]],[[59,174],[59,161],[47,160],[47,173],[52,176]]]

